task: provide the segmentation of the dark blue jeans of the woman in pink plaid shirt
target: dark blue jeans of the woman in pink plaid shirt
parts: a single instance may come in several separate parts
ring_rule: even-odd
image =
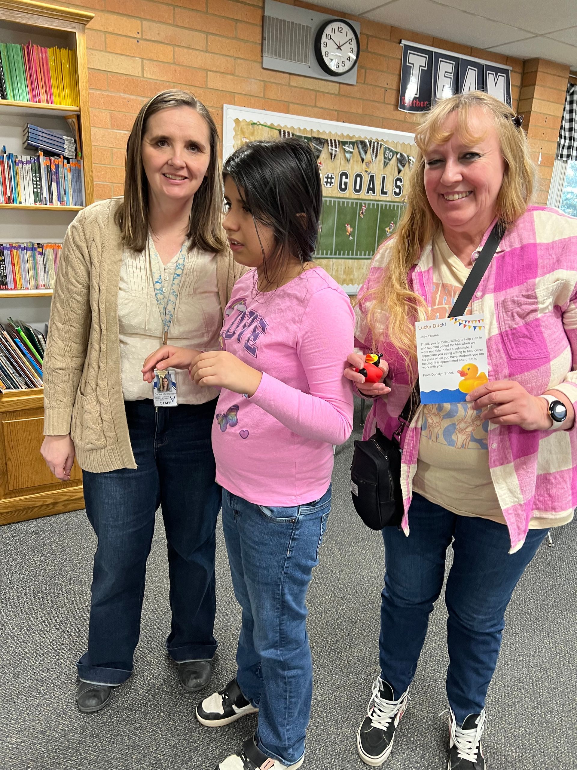
[[[451,541],[453,563],[445,591],[449,670],[447,696],[459,725],[485,707],[495,672],[505,609],[515,585],[548,530],[529,530],[525,544],[509,554],[503,524],[457,516],[415,494],[411,534],[385,527],[385,588],[382,591],[381,676],[395,699],[411,684],[434,602],[445,577]],[[453,540],[454,538],[454,540]]]

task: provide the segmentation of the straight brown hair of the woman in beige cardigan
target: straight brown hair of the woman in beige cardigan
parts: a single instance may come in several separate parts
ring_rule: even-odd
[[[187,237],[191,249],[222,252],[225,250],[225,234],[222,229],[222,180],[218,169],[218,129],[205,105],[198,99],[178,89],[161,91],[142,106],[126,142],[126,169],[124,199],[115,219],[122,233],[122,243],[127,249],[142,251],[148,238],[148,179],[142,166],[142,139],[148,119],[163,109],[190,107],[202,115],[210,136],[210,161],[206,176],[195,192]]]

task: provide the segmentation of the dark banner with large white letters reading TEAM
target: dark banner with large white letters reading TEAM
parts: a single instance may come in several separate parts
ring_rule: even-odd
[[[485,91],[511,105],[511,68],[415,43],[402,43],[402,112],[427,112],[455,93]]]

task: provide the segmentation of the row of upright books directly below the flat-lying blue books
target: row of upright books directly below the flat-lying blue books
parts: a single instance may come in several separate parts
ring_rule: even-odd
[[[0,152],[0,203],[85,206],[82,160]]]

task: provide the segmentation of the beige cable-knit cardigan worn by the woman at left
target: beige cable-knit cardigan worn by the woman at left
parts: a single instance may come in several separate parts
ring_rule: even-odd
[[[78,464],[100,473],[135,468],[126,422],[118,342],[122,240],[114,215],[122,199],[93,203],[68,227],[44,358],[44,433],[70,434]],[[224,316],[244,272],[219,254],[218,296]]]

